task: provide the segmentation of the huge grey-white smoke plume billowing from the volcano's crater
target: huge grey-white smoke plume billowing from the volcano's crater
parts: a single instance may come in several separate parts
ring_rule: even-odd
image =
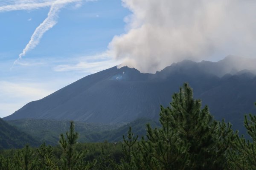
[[[255,57],[255,0],[122,0],[132,14],[109,50],[123,65],[155,72],[183,59]]]

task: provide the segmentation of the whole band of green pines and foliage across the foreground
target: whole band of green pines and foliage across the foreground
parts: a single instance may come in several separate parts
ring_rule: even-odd
[[[193,99],[185,83],[171,106],[161,107],[160,127],[146,126],[138,140],[131,127],[122,143],[77,143],[73,122],[59,145],[42,144],[21,150],[2,150],[2,170],[254,170],[256,116],[245,116],[251,140],[239,137],[230,123],[218,122]]]

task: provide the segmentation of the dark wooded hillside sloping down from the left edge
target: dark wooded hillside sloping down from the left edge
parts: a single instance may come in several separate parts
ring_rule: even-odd
[[[0,149],[23,148],[26,144],[38,146],[39,142],[0,118]]]

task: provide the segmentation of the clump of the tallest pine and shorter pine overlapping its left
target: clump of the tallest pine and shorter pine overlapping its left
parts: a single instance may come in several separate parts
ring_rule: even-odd
[[[213,119],[209,109],[201,109],[188,83],[172,97],[171,107],[161,106],[160,129],[147,125],[147,140],[133,152],[140,170],[218,170],[228,165],[228,150],[234,134],[224,120]]]

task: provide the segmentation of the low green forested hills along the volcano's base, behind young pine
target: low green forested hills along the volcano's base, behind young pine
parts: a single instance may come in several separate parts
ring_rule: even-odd
[[[49,120],[49,119],[20,119],[8,121],[11,125],[16,126],[20,130],[35,136],[41,143],[56,145],[58,144],[61,133],[69,130],[70,122],[66,120]],[[118,142],[122,141],[122,135],[127,135],[131,126],[135,135],[146,135],[146,124],[150,123],[151,127],[158,127],[159,123],[147,119],[140,118],[126,125],[113,124],[92,124],[85,122],[74,122],[75,130],[79,133],[79,142]]]

